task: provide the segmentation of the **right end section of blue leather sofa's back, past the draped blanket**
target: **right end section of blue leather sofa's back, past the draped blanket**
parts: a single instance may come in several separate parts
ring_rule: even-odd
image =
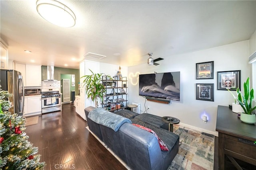
[[[129,123],[124,123],[119,131],[124,135],[124,149],[126,152],[127,164],[131,169],[162,169],[162,151],[158,140],[152,133]]]

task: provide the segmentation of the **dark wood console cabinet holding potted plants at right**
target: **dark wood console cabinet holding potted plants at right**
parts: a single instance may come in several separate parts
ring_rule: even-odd
[[[242,122],[227,106],[218,106],[219,169],[256,170],[256,125]]]

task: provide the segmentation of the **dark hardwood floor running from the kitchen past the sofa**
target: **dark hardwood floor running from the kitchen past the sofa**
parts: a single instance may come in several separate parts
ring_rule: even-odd
[[[85,128],[87,122],[72,104],[63,104],[62,111],[39,116],[38,124],[26,127],[29,141],[38,147],[46,170],[124,170],[126,169]],[[214,170],[218,170],[218,138],[215,138]]]

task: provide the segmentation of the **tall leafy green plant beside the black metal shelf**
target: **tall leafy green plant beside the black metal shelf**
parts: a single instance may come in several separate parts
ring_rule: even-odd
[[[92,70],[90,70],[90,72],[92,72]],[[85,78],[83,82],[87,98],[91,98],[92,101],[95,102],[95,107],[98,107],[99,98],[101,101],[103,101],[103,97],[106,92],[104,85],[100,82],[101,76],[102,73],[99,74],[92,72],[91,75],[85,75],[81,77]]]

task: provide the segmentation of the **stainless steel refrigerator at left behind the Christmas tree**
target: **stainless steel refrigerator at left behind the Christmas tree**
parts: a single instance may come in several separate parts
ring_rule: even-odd
[[[9,111],[23,116],[24,111],[24,85],[20,72],[16,70],[0,70],[0,85],[5,91],[12,94],[9,98],[13,107]]]

